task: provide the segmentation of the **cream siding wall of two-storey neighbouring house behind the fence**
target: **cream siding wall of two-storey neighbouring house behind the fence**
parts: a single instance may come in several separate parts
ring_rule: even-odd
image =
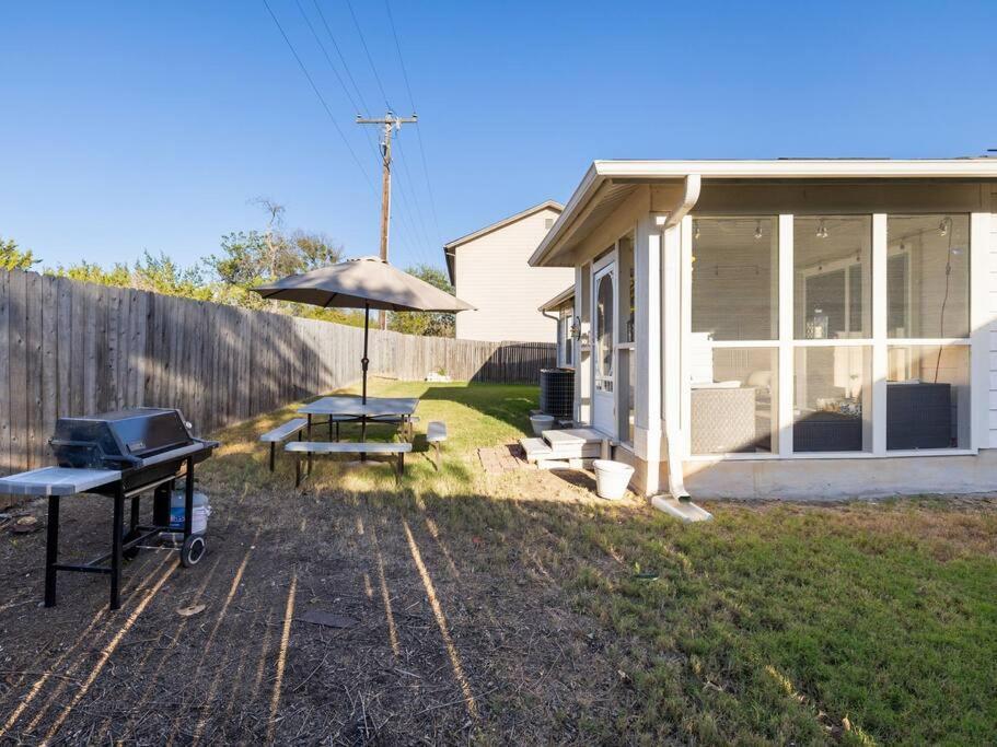
[[[457,314],[459,338],[556,340],[556,323],[536,308],[572,284],[575,270],[530,267],[526,260],[547,233],[545,221],[557,215],[556,210],[541,210],[456,247],[456,294],[477,306]]]

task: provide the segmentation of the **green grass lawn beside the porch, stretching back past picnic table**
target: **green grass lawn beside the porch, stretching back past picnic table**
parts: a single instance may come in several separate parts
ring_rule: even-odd
[[[592,693],[603,707],[555,709],[571,734],[997,744],[994,502],[718,502],[716,521],[686,526],[642,501],[600,502],[552,474],[483,475],[476,450],[528,432],[535,387],[375,381],[372,392],[419,397],[417,433],[447,422],[443,470],[415,454],[398,489],[387,470],[347,475],[331,463],[308,489],[362,494],[385,515],[425,512],[479,582],[521,583],[523,595],[553,582],[564,615],[598,631],[590,656],[618,673]],[[222,434],[212,479],[230,490],[286,486],[288,464],[270,476],[252,442],[292,411]],[[491,701],[538,708],[505,690]]]

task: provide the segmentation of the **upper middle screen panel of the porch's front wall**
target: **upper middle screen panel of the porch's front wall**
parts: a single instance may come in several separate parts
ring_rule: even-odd
[[[798,340],[872,337],[872,218],[793,219]]]

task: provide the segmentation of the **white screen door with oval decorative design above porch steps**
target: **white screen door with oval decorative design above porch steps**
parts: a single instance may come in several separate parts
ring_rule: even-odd
[[[592,266],[592,427],[616,435],[616,256]]]

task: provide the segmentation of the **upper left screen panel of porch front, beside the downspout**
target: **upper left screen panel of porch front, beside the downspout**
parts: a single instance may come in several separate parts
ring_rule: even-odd
[[[693,221],[693,332],[712,340],[774,340],[779,323],[777,221]]]

